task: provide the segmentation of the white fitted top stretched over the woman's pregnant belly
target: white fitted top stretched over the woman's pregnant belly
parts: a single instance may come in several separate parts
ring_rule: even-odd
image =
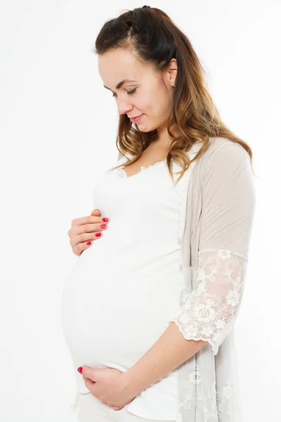
[[[173,171],[181,171],[176,162]],[[125,372],[178,312],[183,183],[174,184],[166,160],[131,177],[122,168],[107,171],[96,183],[94,207],[110,223],[80,255],[63,291],[63,330],[79,392],[89,390],[78,366]],[[142,418],[176,421],[177,395],[175,369],[125,408]]]

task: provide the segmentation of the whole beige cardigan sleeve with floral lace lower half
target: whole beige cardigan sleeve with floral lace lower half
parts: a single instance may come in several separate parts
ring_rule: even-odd
[[[228,144],[204,174],[194,286],[182,292],[171,320],[186,339],[209,342],[214,354],[240,309],[254,205],[249,156],[239,144]]]

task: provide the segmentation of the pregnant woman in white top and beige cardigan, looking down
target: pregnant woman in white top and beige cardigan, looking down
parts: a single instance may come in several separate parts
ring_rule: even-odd
[[[143,6],[107,21],[98,70],[118,158],[74,219],[62,322],[81,422],[240,421],[234,323],[254,217],[251,148],[190,41]]]

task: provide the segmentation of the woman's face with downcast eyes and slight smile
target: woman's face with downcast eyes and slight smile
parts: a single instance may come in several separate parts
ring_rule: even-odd
[[[143,65],[130,51],[123,49],[98,56],[100,77],[105,88],[112,91],[118,113],[129,118],[143,114],[135,123],[141,132],[166,126],[172,110],[176,69],[176,59],[172,59],[168,70],[156,73],[151,65]],[[124,79],[134,82],[117,87]]]

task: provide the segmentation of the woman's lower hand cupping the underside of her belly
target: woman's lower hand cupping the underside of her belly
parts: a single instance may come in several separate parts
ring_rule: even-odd
[[[134,394],[129,383],[124,378],[124,373],[115,368],[92,369],[83,366],[81,374],[86,388],[114,410],[122,409],[131,402],[137,394]]]

